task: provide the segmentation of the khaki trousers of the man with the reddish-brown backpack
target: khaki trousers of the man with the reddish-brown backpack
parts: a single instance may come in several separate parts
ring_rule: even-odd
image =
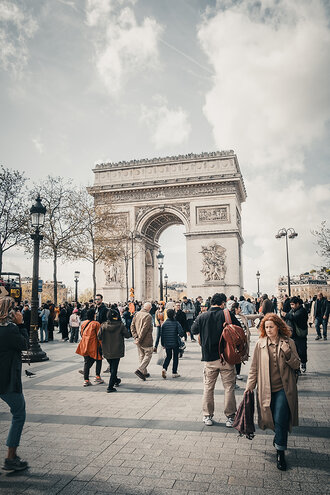
[[[236,413],[235,366],[226,362],[221,363],[220,359],[217,359],[216,361],[209,361],[204,364],[204,416],[213,416],[214,414],[214,387],[219,373],[225,390],[224,413],[227,417],[233,416]]]

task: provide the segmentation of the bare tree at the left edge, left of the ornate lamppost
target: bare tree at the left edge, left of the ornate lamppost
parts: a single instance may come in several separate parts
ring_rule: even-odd
[[[29,211],[26,177],[18,170],[0,169],[0,272],[3,253],[20,245],[28,235]]]

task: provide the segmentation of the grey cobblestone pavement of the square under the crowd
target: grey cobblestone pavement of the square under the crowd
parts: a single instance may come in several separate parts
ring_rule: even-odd
[[[128,341],[116,394],[107,394],[106,385],[82,387],[82,358],[75,354],[75,344],[43,344],[50,360],[31,365],[36,376],[23,378],[27,422],[19,454],[31,467],[19,474],[2,471],[1,495],[330,493],[330,347],[314,337],[312,329],[308,371],[298,384],[300,426],[289,436],[286,472],[276,468],[271,431],[257,429],[249,441],[225,427],[220,381],[217,423],[204,426],[198,343],[187,343],[181,378],[168,373],[162,379],[154,355],[151,377],[142,382],[133,373],[137,351]],[[253,335],[253,344],[256,339]],[[242,367],[237,403],[247,372],[248,364]],[[1,459],[9,420],[0,401]]]

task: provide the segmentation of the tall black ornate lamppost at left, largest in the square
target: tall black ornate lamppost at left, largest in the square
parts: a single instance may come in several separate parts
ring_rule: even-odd
[[[32,296],[31,296],[31,325],[30,325],[30,348],[23,352],[22,361],[31,361],[33,363],[48,361],[47,354],[41,349],[38,342],[38,279],[39,279],[39,247],[43,235],[40,234],[40,228],[45,222],[46,208],[41,203],[40,195],[36,198],[35,204],[30,209],[31,225],[35,227],[33,239],[33,277],[32,277]]]

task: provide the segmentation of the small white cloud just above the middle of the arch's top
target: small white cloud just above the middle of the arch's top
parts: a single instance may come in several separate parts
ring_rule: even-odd
[[[164,98],[156,97],[156,104],[141,106],[140,121],[152,132],[151,140],[157,149],[183,143],[189,137],[191,125],[188,115],[181,108],[170,109]]]

